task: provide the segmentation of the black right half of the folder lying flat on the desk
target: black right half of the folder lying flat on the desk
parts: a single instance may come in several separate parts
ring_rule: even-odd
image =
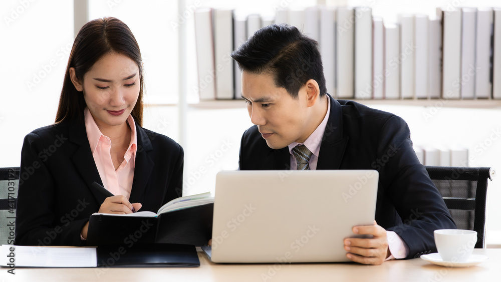
[[[183,244],[103,245],[97,247],[100,267],[197,267],[195,246]]]

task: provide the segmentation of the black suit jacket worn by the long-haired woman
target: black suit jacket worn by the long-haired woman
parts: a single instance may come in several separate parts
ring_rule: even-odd
[[[157,212],[182,194],[182,147],[136,123],[137,151],[129,201]],[[80,232],[106,196],[83,122],[62,122],[25,137],[16,211],[18,245],[85,245]]]

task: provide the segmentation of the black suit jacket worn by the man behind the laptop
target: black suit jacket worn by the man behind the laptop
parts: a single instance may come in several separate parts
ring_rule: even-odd
[[[377,170],[377,223],[402,238],[409,247],[407,258],[435,252],[433,231],[456,226],[417,159],[405,121],[353,101],[327,96],[331,109],[317,169]],[[239,167],[290,169],[289,149],[271,149],[257,126],[250,127],[241,139]]]

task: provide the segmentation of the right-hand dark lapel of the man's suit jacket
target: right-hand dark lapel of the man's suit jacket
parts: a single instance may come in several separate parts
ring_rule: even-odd
[[[348,136],[343,137],[343,111],[338,101],[329,94],[331,110],[327,126],[325,127],[320,152],[317,162],[317,169],[339,169],[343,155],[348,144]]]

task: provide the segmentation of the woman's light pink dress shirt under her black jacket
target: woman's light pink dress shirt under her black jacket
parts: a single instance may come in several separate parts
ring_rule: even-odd
[[[127,123],[131,129],[130,144],[124,155],[124,160],[115,170],[111,159],[111,140],[101,133],[88,108],[84,112],[85,130],[91,146],[92,156],[96,163],[103,186],[113,195],[124,195],[129,199],[134,179],[134,163],[137,151],[136,125],[131,115]]]

